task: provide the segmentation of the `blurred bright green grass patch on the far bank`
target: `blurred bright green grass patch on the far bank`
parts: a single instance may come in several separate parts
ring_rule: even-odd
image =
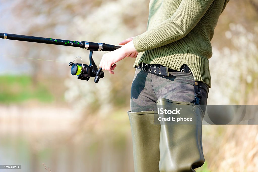
[[[50,103],[54,97],[43,83],[34,83],[31,76],[0,76],[0,103],[22,103],[36,100]]]

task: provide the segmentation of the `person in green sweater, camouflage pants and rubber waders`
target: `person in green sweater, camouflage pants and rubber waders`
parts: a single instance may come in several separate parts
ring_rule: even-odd
[[[137,56],[128,112],[135,171],[194,171],[203,165],[200,125],[155,125],[154,116],[160,102],[189,109],[207,104],[210,41],[228,1],[151,0],[147,31],[103,55],[100,67],[111,74],[116,62]],[[203,117],[202,111],[205,106]]]

